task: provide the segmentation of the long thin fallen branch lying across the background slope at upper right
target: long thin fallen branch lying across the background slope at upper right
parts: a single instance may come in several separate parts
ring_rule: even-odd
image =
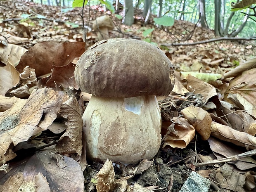
[[[220,37],[220,38],[213,38],[213,39],[208,39],[208,40],[203,40],[203,41],[197,41],[193,43],[171,43],[171,44],[161,44],[162,46],[180,46],[180,45],[198,45],[198,44],[204,44],[204,43],[211,43],[211,42],[216,42],[216,41],[221,41],[221,40],[256,40],[256,37],[250,37],[250,38],[235,38],[235,37]]]

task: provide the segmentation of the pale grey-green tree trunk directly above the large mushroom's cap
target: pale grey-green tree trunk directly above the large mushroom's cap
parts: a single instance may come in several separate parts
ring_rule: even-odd
[[[124,17],[122,23],[131,26],[134,22],[133,0],[124,0],[123,15]]]

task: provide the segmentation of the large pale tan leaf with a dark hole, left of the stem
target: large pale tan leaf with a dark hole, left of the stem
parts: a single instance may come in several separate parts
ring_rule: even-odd
[[[0,160],[4,161],[9,154],[10,144],[15,146],[46,130],[57,117],[63,97],[62,92],[39,89],[28,100],[17,100],[11,109],[3,112],[0,116]]]

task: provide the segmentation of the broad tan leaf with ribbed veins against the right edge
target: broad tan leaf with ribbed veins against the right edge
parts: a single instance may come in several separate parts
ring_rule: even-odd
[[[256,117],[256,69],[244,71],[240,76],[233,78],[225,95]]]

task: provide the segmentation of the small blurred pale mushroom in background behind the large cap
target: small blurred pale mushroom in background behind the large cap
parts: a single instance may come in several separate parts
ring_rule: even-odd
[[[112,19],[108,16],[101,16],[95,19],[92,29],[97,31],[98,40],[109,39],[109,30],[115,28]]]

